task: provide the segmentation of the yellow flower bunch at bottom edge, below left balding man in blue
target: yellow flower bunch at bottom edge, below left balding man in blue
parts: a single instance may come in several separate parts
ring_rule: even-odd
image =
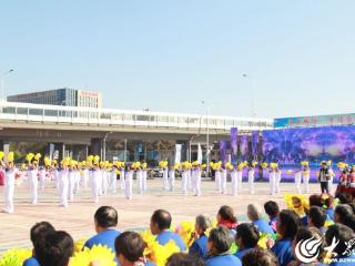
[[[92,262],[98,262],[99,265],[104,266],[115,266],[114,257],[111,248],[95,245],[91,249],[84,248],[84,250],[75,253],[70,259],[70,266],[89,266]]]

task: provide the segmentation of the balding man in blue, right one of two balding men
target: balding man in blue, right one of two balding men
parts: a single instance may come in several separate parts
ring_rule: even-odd
[[[175,242],[176,246],[179,246],[181,252],[186,250],[186,245],[181,236],[174,232],[170,231],[170,226],[172,223],[171,214],[164,209],[156,209],[150,223],[150,229],[153,235],[156,235],[155,241],[160,245],[165,245],[170,241]]]

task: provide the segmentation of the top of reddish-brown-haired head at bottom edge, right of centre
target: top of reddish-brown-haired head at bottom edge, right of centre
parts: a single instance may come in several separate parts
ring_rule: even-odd
[[[254,248],[243,257],[243,266],[278,266],[273,253],[263,248]]]

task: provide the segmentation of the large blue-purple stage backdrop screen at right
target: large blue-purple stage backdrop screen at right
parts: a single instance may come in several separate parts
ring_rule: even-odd
[[[293,180],[294,174],[286,174],[286,171],[298,167],[303,160],[310,162],[313,181],[316,180],[321,161],[332,160],[333,170],[338,176],[336,163],[355,163],[355,126],[264,131],[263,157],[267,163],[278,162],[283,175],[288,180]]]

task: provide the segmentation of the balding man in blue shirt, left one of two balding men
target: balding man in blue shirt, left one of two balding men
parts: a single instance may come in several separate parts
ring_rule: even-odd
[[[114,252],[114,241],[121,234],[116,227],[119,223],[118,212],[110,206],[100,207],[94,215],[97,235],[87,241],[84,247],[94,245],[106,246]]]

